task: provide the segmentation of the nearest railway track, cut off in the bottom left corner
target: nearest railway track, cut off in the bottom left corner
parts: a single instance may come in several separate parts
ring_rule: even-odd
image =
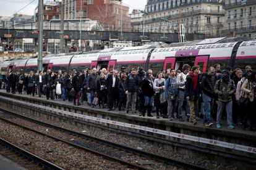
[[[15,162],[22,161],[25,162],[25,166],[29,169],[57,169],[61,170],[62,168],[56,164],[53,164],[39,156],[34,155],[26,150],[23,150],[17,145],[8,142],[0,137],[1,152],[5,152],[4,155],[9,156]]]

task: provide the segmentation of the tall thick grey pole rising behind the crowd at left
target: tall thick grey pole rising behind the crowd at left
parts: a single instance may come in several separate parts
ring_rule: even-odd
[[[43,0],[38,3],[38,71],[43,71]]]

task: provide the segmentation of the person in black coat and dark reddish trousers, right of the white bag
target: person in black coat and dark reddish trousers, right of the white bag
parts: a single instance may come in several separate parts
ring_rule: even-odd
[[[74,99],[73,99],[74,105],[75,105],[76,100],[77,100],[77,105],[80,105],[80,95],[81,95],[81,90],[82,90],[82,86],[83,86],[83,81],[82,81],[81,74],[79,71],[77,71],[74,78],[72,78],[72,84],[73,84],[73,88],[75,90],[75,95],[74,95]]]

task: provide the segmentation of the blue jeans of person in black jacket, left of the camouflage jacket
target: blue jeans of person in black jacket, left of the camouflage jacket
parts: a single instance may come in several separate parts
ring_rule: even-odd
[[[203,122],[208,123],[211,117],[211,108],[213,108],[213,97],[209,97],[208,95],[203,93],[203,105],[204,107],[202,107],[202,109],[205,111],[205,115],[203,116]]]

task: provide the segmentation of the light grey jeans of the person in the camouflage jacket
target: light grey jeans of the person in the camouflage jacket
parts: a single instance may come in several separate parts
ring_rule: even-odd
[[[218,111],[217,111],[217,122],[216,123],[218,123],[218,124],[221,123],[221,115],[222,115],[224,108],[226,108],[228,125],[231,125],[231,124],[233,124],[232,101],[230,101],[230,102],[221,102],[220,100],[218,101]]]

